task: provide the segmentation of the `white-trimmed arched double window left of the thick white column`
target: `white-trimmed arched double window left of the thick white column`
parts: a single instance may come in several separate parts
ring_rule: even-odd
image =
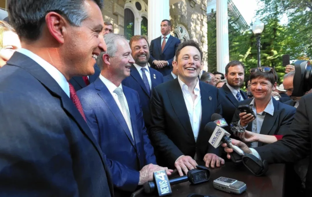
[[[128,37],[128,30],[126,30],[126,21],[129,21],[127,18],[127,13],[130,10],[133,14],[133,35],[147,35],[147,24],[148,24],[148,15],[147,15],[147,4],[143,0],[126,0],[124,4],[124,35],[127,39]]]

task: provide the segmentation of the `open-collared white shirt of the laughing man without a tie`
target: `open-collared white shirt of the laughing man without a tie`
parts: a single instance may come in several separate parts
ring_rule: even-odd
[[[194,102],[191,93],[188,91],[188,86],[180,79],[180,77],[178,77],[178,81],[183,92],[184,102],[188,110],[188,116],[190,118],[196,142],[199,133],[200,122],[202,120],[202,99],[200,95],[199,80],[197,80],[197,84],[194,88],[194,94],[197,96]]]

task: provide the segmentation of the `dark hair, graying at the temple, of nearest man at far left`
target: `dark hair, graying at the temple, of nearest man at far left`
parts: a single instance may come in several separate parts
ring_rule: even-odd
[[[93,0],[100,8],[103,0]],[[20,39],[38,40],[45,16],[49,12],[57,12],[73,26],[80,26],[88,14],[85,12],[85,0],[10,0],[8,13],[11,25]]]

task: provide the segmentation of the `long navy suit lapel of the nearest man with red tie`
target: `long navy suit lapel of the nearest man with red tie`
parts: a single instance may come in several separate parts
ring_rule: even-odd
[[[58,83],[51,77],[51,75],[47,73],[46,70],[44,70],[34,60],[18,52],[15,52],[13,54],[12,58],[8,61],[8,64],[12,64],[22,69],[25,69],[28,73],[30,73],[38,81],[40,81],[42,85],[50,91],[52,96],[58,97],[61,100],[61,107],[78,124],[81,132],[84,133],[85,136],[91,141],[97,152],[100,154],[102,162],[104,162],[100,147],[98,143],[95,141],[95,138],[93,137],[93,134],[91,133],[91,130],[89,129],[87,123],[80,115],[74,103],[62,90],[62,88],[58,85]],[[105,166],[104,163],[103,165]]]

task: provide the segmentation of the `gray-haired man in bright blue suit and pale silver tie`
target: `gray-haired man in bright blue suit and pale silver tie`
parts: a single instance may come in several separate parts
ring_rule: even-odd
[[[156,165],[136,91],[121,84],[130,75],[134,63],[124,36],[107,34],[107,53],[97,59],[101,74],[94,83],[77,95],[87,123],[107,156],[113,177],[115,196],[130,196],[131,192],[153,180],[153,172],[167,169]]]

